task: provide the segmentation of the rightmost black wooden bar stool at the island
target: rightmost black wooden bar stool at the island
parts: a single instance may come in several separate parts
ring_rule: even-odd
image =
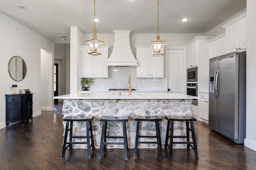
[[[194,149],[195,157],[198,159],[198,152],[196,147],[196,135],[194,130],[194,123],[193,121],[196,121],[196,118],[192,116],[165,116],[167,119],[167,129],[166,129],[166,138],[165,138],[165,145],[164,149],[167,149],[167,147],[170,149],[169,152],[169,158],[172,159],[172,144],[187,144],[187,150]],[[186,136],[174,136],[173,135],[173,129],[174,129],[174,121],[186,121]],[[189,123],[191,128],[189,128]],[[171,124],[171,125],[170,125]],[[169,136],[170,131],[170,136]],[[192,142],[190,142],[190,134],[189,131],[192,132]],[[170,145],[168,144],[168,138],[170,138]],[[186,138],[186,142],[174,142],[173,138]],[[193,144],[193,145],[192,145]]]

